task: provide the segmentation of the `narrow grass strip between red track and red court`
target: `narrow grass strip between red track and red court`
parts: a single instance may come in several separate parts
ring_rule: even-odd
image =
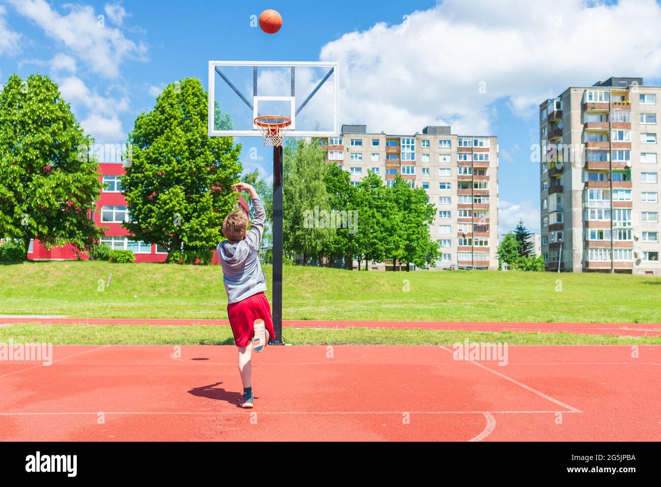
[[[55,345],[234,345],[229,326],[87,326],[15,324],[0,327],[0,343]],[[509,345],[661,345],[661,337],[574,333],[462,332],[370,328],[286,328],[292,345],[453,345],[465,339]]]

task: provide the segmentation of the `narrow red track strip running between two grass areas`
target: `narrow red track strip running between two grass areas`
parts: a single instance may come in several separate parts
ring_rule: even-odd
[[[159,318],[38,318],[0,316],[0,325],[40,323],[62,325],[217,325],[229,326],[227,320],[177,320]],[[289,328],[397,328],[399,330],[464,330],[473,332],[566,332],[589,335],[658,336],[661,324],[615,323],[516,323],[516,322],[370,322],[331,320],[284,320]]]

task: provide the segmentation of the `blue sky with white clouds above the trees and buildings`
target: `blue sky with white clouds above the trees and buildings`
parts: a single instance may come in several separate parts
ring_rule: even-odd
[[[281,13],[277,34],[251,26],[264,9]],[[654,0],[0,0],[0,84],[52,76],[85,130],[114,144],[163,86],[206,86],[208,60],[338,61],[340,123],[498,136],[500,232],[519,218],[539,230],[537,105],[610,76],[661,84],[660,24]],[[270,177],[268,152],[240,142],[266,155],[244,167]]]

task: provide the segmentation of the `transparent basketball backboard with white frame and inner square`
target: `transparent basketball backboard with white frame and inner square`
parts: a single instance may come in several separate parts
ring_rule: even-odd
[[[263,137],[254,119],[292,119],[288,137],[338,135],[338,64],[210,61],[209,136]]]

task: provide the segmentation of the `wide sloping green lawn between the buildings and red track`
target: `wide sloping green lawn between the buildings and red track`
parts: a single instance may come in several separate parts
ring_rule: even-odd
[[[110,286],[100,291],[99,281],[107,283],[111,273]],[[264,273],[270,289],[270,267]],[[0,265],[0,283],[0,314],[227,318],[218,265],[26,262]],[[286,266],[283,315],[285,320],[659,323],[661,278]]]

